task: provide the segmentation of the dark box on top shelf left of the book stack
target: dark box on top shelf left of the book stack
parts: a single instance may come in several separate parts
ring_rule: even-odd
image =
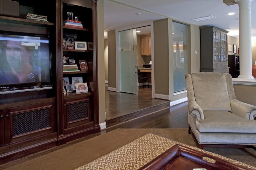
[[[10,0],[0,0],[0,15],[19,18],[19,2]]]

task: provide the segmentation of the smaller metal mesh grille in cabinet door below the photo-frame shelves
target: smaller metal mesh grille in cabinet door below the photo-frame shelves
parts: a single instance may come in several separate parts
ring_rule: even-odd
[[[68,121],[88,118],[88,101],[68,105]]]

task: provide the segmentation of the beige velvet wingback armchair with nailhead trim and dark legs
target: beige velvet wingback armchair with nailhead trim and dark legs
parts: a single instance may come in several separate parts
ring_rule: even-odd
[[[236,99],[227,73],[186,74],[189,133],[198,147],[256,149],[256,107]]]

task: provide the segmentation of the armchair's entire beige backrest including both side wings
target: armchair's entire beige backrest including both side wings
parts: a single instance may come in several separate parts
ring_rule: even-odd
[[[230,74],[201,72],[186,74],[188,102],[195,100],[204,110],[230,111],[229,99],[235,98]]]

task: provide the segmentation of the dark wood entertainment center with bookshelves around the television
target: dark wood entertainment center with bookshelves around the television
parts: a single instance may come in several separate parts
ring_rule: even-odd
[[[52,89],[0,94],[0,164],[100,131],[97,72],[97,0],[33,0],[19,2],[20,17],[0,16],[0,31],[50,35]],[[62,26],[67,12],[84,28]],[[23,19],[27,13],[49,22]],[[63,49],[65,34],[90,42],[87,50]],[[63,52],[86,60],[88,71],[63,73]],[[63,94],[63,78],[82,77],[87,93]],[[74,89],[73,89],[74,90]]]

